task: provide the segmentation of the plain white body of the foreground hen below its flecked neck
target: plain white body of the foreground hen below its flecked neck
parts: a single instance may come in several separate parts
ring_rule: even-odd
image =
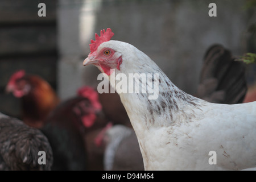
[[[202,102],[201,106],[201,110],[194,109],[195,118],[139,132],[145,169],[227,170],[256,166],[256,115],[250,114],[256,113],[255,102]],[[132,117],[131,121],[134,120]],[[209,163],[213,156],[210,151],[216,152],[216,164]]]

